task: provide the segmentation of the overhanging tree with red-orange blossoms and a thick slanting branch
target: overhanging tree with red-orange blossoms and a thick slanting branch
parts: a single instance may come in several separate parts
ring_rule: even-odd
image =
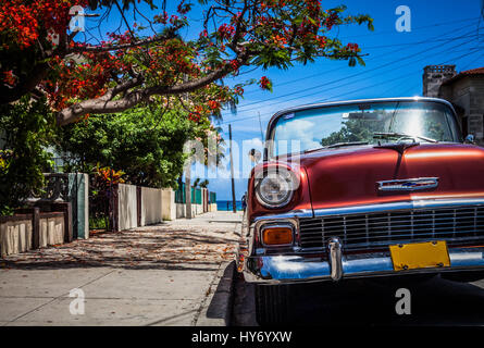
[[[363,63],[358,45],[345,45],[332,28],[367,24],[372,29],[368,15],[347,15],[345,7],[324,9],[319,0],[199,0],[203,27],[196,38],[183,39],[178,33],[189,26],[193,3],[182,0],[167,13],[162,1],[148,18],[138,2],[2,1],[0,102],[38,90],[65,125],[173,98],[198,122],[236,103],[248,84],[272,89],[266,76],[235,86],[221,82],[241,67],[288,69],[317,58]],[[152,0],[145,2],[157,9]],[[116,10],[127,30],[106,33],[97,45],[76,40],[77,33],[69,30],[73,5],[106,9],[99,21]]]

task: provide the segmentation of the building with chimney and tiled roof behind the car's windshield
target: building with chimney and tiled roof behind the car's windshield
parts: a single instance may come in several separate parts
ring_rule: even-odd
[[[456,72],[456,65],[427,65],[423,71],[423,96],[451,102],[463,136],[472,134],[484,146],[484,67]]]

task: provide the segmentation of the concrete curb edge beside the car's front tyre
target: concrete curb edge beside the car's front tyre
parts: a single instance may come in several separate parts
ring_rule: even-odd
[[[235,261],[222,262],[195,326],[228,326],[234,299]],[[216,286],[216,289],[214,287]]]

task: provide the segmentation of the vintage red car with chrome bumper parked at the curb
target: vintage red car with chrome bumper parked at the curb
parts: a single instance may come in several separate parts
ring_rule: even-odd
[[[238,254],[258,321],[284,320],[295,283],[484,277],[484,149],[472,142],[435,98],[276,113],[248,182]]]

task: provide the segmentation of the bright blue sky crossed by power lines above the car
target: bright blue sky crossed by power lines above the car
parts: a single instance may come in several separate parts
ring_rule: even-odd
[[[257,86],[247,87],[237,113],[223,113],[220,126],[224,138],[228,139],[228,124],[232,124],[233,138],[239,147],[235,153],[236,159],[240,159],[237,162],[246,157],[243,141],[260,145],[261,129],[265,133],[268,121],[281,109],[321,101],[421,96],[425,65],[456,64],[457,71],[484,66],[484,29],[479,33],[479,26],[484,27],[484,18],[480,20],[481,0],[340,0],[323,1],[323,7],[342,3],[347,5],[347,13],[368,13],[374,18],[374,32],[358,25],[333,30],[343,42],[357,42],[363,53],[368,53],[365,66],[350,67],[346,61],[319,60],[288,71],[257,70],[239,78],[227,78],[227,84],[235,84],[243,78],[265,75],[274,85],[273,92],[262,91]],[[399,17],[395,11],[399,5],[411,10],[409,33],[399,33],[395,28]],[[199,18],[196,10],[190,18]],[[107,24],[108,30],[113,23]],[[198,34],[200,22],[193,23],[184,33],[187,37]],[[224,165],[228,169],[227,162]],[[246,163],[246,167],[239,170],[247,172],[249,165]],[[231,199],[231,181],[225,176],[210,179],[209,185],[221,200]],[[239,199],[246,190],[247,179],[236,179],[235,186]]]

